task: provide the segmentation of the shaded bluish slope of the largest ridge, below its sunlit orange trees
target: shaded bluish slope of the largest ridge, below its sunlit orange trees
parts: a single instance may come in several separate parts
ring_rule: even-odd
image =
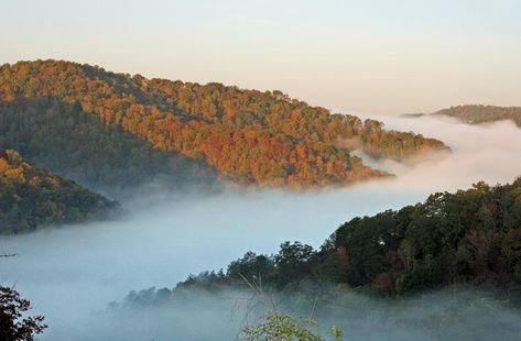
[[[162,188],[211,188],[215,169],[203,160],[155,150],[146,141],[107,125],[99,117],[54,98],[0,102],[0,148],[83,186],[121,197],[151,183]]]

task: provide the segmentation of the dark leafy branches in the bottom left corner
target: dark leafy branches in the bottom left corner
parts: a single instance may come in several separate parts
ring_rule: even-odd
[[[0,340],[32,341],[34,334],[47,328],[42,316],[22,319],[22,315],[30,309],[31,302],[21,298],[17,290],[0,286]]]

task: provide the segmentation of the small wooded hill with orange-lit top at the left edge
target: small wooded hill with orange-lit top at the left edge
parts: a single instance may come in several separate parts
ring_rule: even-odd
[[[0,233],[104,219],[117,206],[25,162],[15,151],[0,152]]]

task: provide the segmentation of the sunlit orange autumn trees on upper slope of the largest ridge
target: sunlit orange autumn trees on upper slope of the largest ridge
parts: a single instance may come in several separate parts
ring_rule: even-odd
[[[23,106],[31,101],[31,120],[41,111],[51,117],[64,110],[95,113],[110,129],[148,141],[159,151],[195,158],[195,164],[204,161],[222,178],[241,185],[344,185],[387,175],[351,156],[352,148],[395,160],[447,150],[437,140],[386,131],[373,120],[330,114],[280,91],[146,79],[69,62],[1,66],[0,101],[0,113],[25,111]],[[66,105],[72,108],[64,109]]]

